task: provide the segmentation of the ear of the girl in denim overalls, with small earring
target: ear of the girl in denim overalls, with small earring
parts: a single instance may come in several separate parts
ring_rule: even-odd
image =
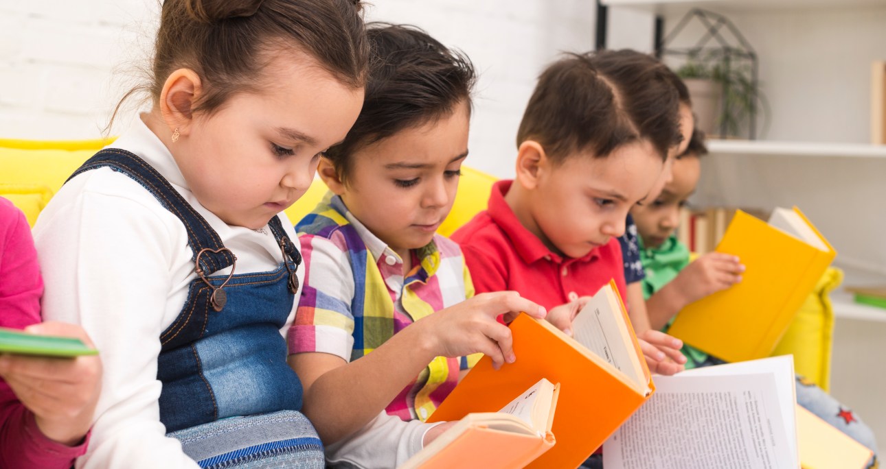
[[[170,135],[176,130],[181,136],[190,134],[193,110],[202,94],[200,76],[190,68],[180,68],[169,74],[160,91],[159,105]]]

